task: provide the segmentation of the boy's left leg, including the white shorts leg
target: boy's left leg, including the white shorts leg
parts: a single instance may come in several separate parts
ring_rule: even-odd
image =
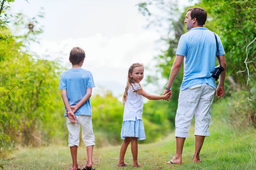
[[[73,170],[78,169],[78,162],[77,162],[77,148],[79,146],[79,131],[80,125],[78,123],[70,122],[70,119],[66,118],[67,129],[69,132],[68,135],[68,146],[70,147],[70,152],[73,161]]]

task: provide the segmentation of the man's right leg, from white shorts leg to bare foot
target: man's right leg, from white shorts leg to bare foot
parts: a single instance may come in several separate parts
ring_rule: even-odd
[[[204,85],[202,95],[195,110],[195,153],[193,162],[201,162],[199,153],[204,144],[205,136],[209,136],[209,125],[212,122],[210,106],[212,105],[215,89]]]

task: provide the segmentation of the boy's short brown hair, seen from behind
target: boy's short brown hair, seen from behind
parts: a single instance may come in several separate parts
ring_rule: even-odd
[[[70,51],[70,61],[72,65],[79,64],[85,58],[84,50],[80,47],[73,47]]]

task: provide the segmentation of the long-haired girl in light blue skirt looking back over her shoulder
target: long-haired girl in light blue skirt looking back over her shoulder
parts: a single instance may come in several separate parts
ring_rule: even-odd
[[[128,81],[123,95],[124,116],[121,131],[121,138],[124,139],[121,145],[119,161],[117,166],[123,167],[127,165],[124,162],[125,152],[128,145],[131,142],[131,153],[133,157],[133,166],[139,167],[141,164],[137,161],[138,156],[138,144],[137,140],[144,140],[145,130],[142,122],[143,111],[143,97],[150,100],[168,99],[170,93],[164,96],[151,95],[145,92],[141,86],[140,81],[144,77],[144,67],[141,63],[134,63],[131,65],[128,71]]]

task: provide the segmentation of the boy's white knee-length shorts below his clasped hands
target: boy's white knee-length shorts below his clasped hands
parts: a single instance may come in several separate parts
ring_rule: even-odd
[[[85,146],[95,145],[95,138],[93,133],[92,116],[78,115],[76,116],[76,122],[70,122],[69,118],[66,118],[68,135],[68,146],[79,147],[79,134],[80,126],[82,127],[82,139]]]

